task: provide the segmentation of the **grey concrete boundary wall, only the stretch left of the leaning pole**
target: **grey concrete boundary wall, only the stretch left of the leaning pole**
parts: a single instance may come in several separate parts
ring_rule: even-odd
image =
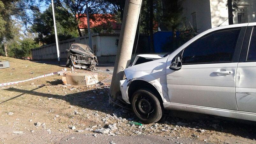
[[[92,50],[97,57],[115,55],[117,52],[116,40],[119,34],[92,34]],[[65,49],[69,49],[71,43],[88,44],[88,35],[59,42],[60,58],[66,59]],[[33,60],[57,59],[56,43],[32,49]]]

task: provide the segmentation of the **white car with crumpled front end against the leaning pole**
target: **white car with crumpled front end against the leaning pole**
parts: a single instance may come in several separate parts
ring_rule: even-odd
[[[256,121],[255,73],[256,23],[220,26],[124,69],[121,98],[144,123],[165,109]]]

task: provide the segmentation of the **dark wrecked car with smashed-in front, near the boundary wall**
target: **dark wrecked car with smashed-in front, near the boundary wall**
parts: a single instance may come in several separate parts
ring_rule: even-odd
[[[66,67],[73,66],[74,68],[94,71],[95,66],[98,65],[96,55],[86,44],[72,43],[66,52],[68,53]]]

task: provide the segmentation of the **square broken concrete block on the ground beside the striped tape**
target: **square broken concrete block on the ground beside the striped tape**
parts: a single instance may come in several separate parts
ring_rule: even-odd
[[[86,73],[68,73],[66,75],[67,85],[92,85],[99,82],[98,75]]]

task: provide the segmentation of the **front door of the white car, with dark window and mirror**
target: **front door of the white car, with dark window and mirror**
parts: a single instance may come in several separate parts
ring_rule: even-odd
[[[245,29],[210,32],[181,51],[182,68],[167,69],[170,102],[237,110],[235,74]]]

